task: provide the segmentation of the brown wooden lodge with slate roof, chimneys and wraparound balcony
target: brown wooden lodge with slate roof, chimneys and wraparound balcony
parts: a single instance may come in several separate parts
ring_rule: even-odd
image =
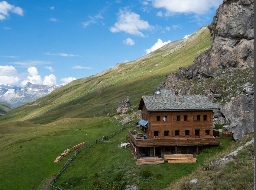
[[[139,109],[141,134],[129,131],[137,158],[199,154],[199,146],[220,143],[220,138],[214,136],[212,120],[217,107],[205,96],[178,95],[173,84],[173,90],[157,90],[153,96],[142,96]]]

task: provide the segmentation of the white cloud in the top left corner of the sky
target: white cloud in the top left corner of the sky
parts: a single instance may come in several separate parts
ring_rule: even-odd
[[[22,8],[15,7],[15,5],[11,5],[6,1],[1,1],[0,2],[0,20],[4,20],[4,19],[6,19],[6,17],[9,18],[10,17],[10,14],[9,14],[10,11],[12,13],[15,13],[15,14],[18,14],[18,15],[21,15],[21,16],[24,15]]]

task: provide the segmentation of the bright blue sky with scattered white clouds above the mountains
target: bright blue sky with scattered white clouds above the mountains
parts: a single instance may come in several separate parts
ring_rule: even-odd
[[[0,0],[0,84],[66,84],[138,59],[210,24],[221,3]]]

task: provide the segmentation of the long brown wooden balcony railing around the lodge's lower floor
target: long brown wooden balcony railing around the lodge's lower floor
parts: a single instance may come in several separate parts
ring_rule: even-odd
[[[219,145],[220,138],[169,138],[169,139],[136,139],[137,135],[134,131],[129,131],[131,141],[137,147],[153,147],[153,146],[193,146],[193,145]]]

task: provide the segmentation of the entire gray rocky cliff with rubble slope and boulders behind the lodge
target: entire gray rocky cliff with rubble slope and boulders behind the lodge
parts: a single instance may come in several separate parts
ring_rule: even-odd
[[[176,84],[180,94],[208,97],[219,108],[214,123],[230,123],[229,131],[236,140],[253,132],[254,1],[223,0],[208,28],[211,48],[196,57],[194,64],[166,75],[160,89],[171,89]],[[240,94],[244,95],[236,97]],[[237,105],[229,103],[233,99]],[[238,116],[235,119],[230,113],[234,110]],[[240,135],[235,135],[236,131]]]

